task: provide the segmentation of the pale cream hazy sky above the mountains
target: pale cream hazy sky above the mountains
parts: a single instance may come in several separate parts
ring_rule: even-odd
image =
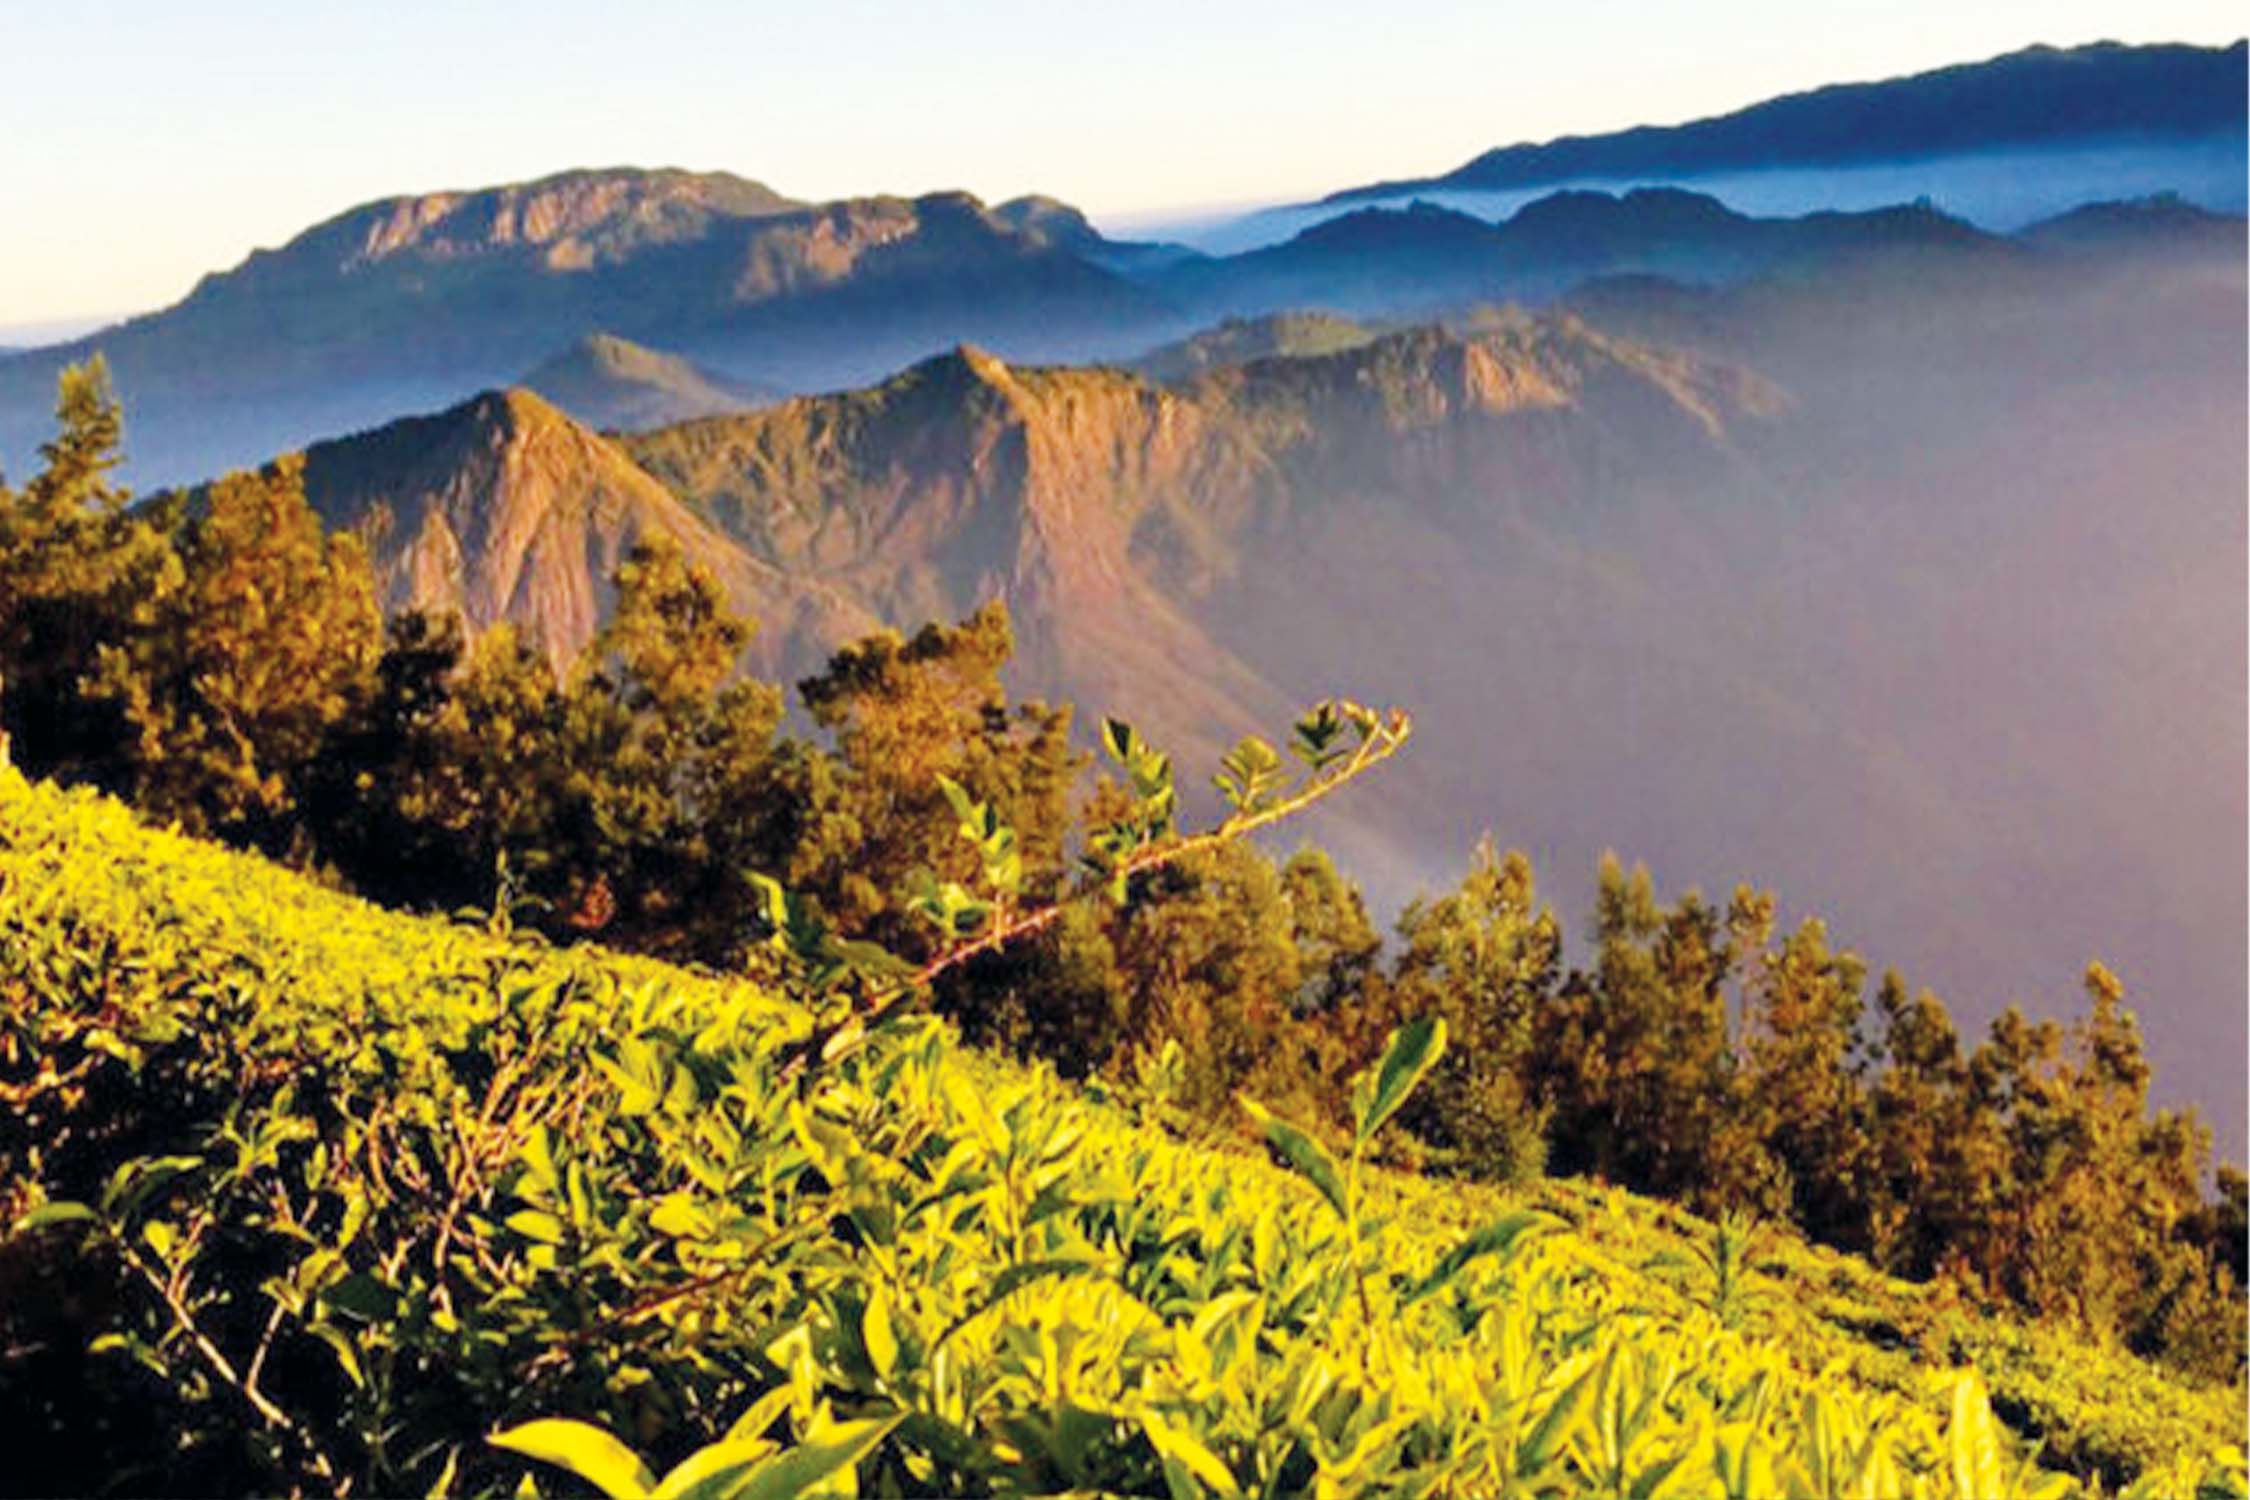
[[[2241,31],[2239,0],[0,0],[0,328],[565,166],[1130,223],[2034,40]]]

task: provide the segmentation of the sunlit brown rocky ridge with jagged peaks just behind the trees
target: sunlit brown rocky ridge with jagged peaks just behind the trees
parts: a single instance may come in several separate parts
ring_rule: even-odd
[[[479,396],[315,445],[306,486],[369,537],[394,607],[513,618],[560,654],[592,634],[621,549],[668,531],[760,616],[774,675],[878,623],[997,596],[1026,690],[1132,704],[1215,749],[1334,666],[1305,652],[1323,609],[1253,632],[1271,670],[1233,650],[1238,605],[1274,607],[1256,573],[1282,542],[1318,535],[1289,567],[1348,571],[1377,533],[1444,546],[1458,484],[1568,510],[1595,488],[1721,472],[1730,423],[1778,405],[1753,378],[1532,322],[1408,331],[1179,389],[963,346],[866,391],[616,439],[522,391]]]

